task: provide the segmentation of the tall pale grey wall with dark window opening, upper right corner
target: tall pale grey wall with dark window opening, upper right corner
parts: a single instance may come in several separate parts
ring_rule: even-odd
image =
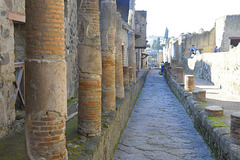
[[[221,52],[229,51],[229,37],[240,37],[240,15],[227,15],[216,20],[216,45]]]

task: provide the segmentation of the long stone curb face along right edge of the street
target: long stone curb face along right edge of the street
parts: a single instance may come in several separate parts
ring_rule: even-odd
[[[203,136],[205,142],[217,159],[239,160],[240,145],[232,142],[229,127],[213,127],[213,121],[206,119],[207,113],[204,107],[192,100],[191,93],[180,87],[168,71],[164,71],[164,77],[175,96],[182,103],[186,112],[192,119],[195,128]]]

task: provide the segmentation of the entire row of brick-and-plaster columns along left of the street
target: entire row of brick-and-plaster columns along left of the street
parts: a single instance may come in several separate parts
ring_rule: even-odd
[[[100,13],[99,0],[80,0],[78,132],[85,136],[101,134],[101,112],[116,110],[116,97],[123,98],[129,82],[136,82],[134,32],[129,32],[130,69],[123,68],[116,0],[103,0]],[[64,1],[26,0],[26,15],[27,158],[67,159]],[[130,18],[134,26],[134,14]]]

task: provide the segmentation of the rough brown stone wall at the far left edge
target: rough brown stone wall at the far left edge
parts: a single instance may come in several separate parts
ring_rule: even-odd
[[[8,133],[15,120],[14,108],[14,25],[8,19],[13,10],[9,0],[0,1],[0,137]]]

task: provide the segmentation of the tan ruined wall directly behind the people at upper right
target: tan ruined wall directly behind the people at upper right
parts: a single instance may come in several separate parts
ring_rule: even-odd
[[[211,31],[205,31],[201,34],[187,35],[185,39],[185,56],[190,56],[190,48],[195,45],[196,49],[200,49],[201,53],[213,52],[215,45],[215,28]]]

